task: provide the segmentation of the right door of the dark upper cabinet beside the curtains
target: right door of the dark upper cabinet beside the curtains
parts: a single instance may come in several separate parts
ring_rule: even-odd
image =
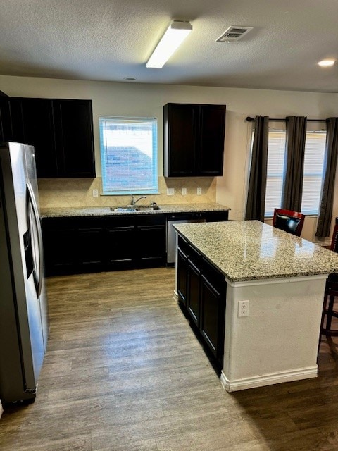
[[[199,122],[199,175],[223,175],[225,105],[201,105]]]

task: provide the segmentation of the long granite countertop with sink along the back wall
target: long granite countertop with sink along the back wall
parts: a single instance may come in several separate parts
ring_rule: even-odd
[[[142,206],[137,204],[136,206]],[[111,211],[110,206],[87,206],[87,207],[55,207],[44,208],[40,210],[42,218],[53,218],[63,216],[111,216],[123,214],[159,214],[159,213],[198,213],[199,211],[229,211],[230,208],[217,203],[208,204],[160,204],[159,210],[140,210],[140,211]],[[112,206],[113,209],[118,205]]]

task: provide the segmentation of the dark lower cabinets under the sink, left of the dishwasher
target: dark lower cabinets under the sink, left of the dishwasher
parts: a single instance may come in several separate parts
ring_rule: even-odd
[[[165,215],[43,218],[47,276],[165,266]]]

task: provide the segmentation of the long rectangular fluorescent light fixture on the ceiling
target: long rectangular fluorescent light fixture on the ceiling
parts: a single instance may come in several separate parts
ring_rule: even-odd
[[[174,20],[170,23],[168,30],[164,33],[161,41],[158,42],[148,63],[146,63],[146,67],[162,68],[191,31],[192,25],[190,22]]]

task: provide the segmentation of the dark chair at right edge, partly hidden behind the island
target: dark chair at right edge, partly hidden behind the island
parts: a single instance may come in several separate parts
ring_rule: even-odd
[[[334,226],[330,249],[338,252],[338,224]],[[324,293],[322,324],[320,328],[322,335],[338,337],[338,329],[332,329],[332,319],[338,318],[338,311],[334,310],[334,298],[336,296],[338,296],[338,274],[329,274]]]

